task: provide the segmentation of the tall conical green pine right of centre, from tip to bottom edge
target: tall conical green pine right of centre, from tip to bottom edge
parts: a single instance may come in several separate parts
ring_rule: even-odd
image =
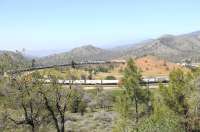
[[[139,119],[143,116],[141,106],[149,101],[148,91],[140,86],[141,78],[140,70],[134,61],[130,59],[124,70],[122,80],[124,94],[118,98],[117,103],[116,110],[119,112],[120,118],[117,121],[117,126],[114,127],[116,132],[130,131],[130,129],[139,130]],[[134,112],[131,109],[134,109]],[[132,122],[129,122],[130,120]]]

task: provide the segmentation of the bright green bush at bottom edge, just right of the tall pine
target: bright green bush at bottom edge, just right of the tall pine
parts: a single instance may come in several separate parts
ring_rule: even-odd
[[[180,118],[155,97],[153,113],[140,122],[139,132],[183,132]]]

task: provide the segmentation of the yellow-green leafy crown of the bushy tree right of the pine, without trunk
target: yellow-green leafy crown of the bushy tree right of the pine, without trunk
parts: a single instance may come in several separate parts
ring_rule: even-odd
[[[169,87],[160,87],[166,104],[178,114],[184,114],[188,109],[187,96],[192,90],[190,81],[189,74],[176,69],[170,74]]]

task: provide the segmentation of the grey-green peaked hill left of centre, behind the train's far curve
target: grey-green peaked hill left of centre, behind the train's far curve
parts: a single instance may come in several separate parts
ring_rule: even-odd
[[[65,64],[71,61],[94,61],[112,58],[110,50],[101,49],[92,45],[74,48],[69,52],[46,56],[37,60],[38,64],[54,65]]]

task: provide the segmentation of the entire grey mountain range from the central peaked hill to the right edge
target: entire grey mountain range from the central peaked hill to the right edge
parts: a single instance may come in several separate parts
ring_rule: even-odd
[[[200,31],[183,35],[164,35],[157,39],[113,49],[86,45],[68,52],[36,59],[38,65],[56,65],[74,61],[127,59],[152,55],[172,62],[192,59],[200,62]]]

